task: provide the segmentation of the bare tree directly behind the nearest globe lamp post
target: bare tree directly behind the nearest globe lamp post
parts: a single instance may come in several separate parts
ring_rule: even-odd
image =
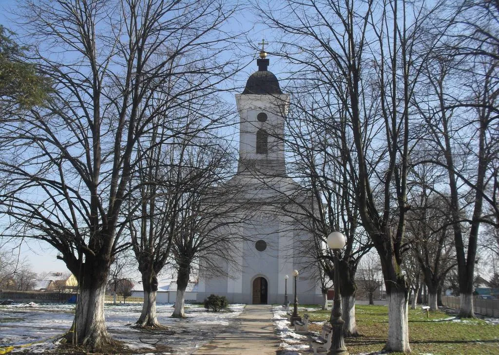
[[[296,222],[302,222],[300,228],[307,230],[314,239],[312,243],[305,243],[305,248],[298,248],[296,254],[306,255],[310,268],[319,267],[318,276],[326,274],[332,280],[333,254],[325,247],[326,237],[332,231],[344,233],[347,243],[339,263],[345,321],[343,332],[345,336],[357,336],[355,272],[361,257],[369,251],[372,244],[359,228],[360,217],[352,184],[355,173],[346,160],[346,155],[342,153],[352,148],[341,134],[345,119],[329,119],[340,114],[334,106],[311,110],[317,104],[313,94],[320,93],[310,90],[313,84],[309,81],[312,80],[296,80],[288,85],[290,92],[297,93],[286,121],[286,144],[291,157],[288,170],[289,175],[300,182],[303,194],[310,195],[307,200],[310,206],[300,205],[299,200],[291,201],[291,206],[293,203],[299,205],[298,213],[295,211]],[[305,91],[305,95],[300,95]],[[324,293],[327,288],[324,282],[321,284]]]

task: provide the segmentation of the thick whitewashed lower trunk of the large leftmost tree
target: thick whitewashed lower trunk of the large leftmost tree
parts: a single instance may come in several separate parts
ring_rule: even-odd
[[[112,340],[107,333],[104,317],[106,283],[91,289],[82,289],[78,296],[74,318],[75,333],[68,334],[68,341],[77,345],[99,349]]]

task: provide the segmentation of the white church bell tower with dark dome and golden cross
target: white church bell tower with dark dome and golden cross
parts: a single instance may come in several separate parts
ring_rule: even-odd
[[[284,118],[289,95],[268,71],[269,60],[262,49],[242,94],[236,95],[240,115],[238,174],[284,176]]]

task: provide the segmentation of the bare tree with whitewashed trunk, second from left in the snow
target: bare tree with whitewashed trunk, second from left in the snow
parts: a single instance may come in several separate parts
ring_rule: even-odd
[[[204,78],[191,75],[189,80]],[[183,161],[186,149],[192,150],[195,144],[216,145],[217,130],[230,124],[233,118],[217,97],[217,88],[200,86],[192,93],[190,86],[175,81],[162,89],[157,100],[163,103],[169,116],[157,116],[151,132],[141,137],[138,168],[130,183],[135,186],[129,197],[130,210],[136,212],[130,216],[128,230],[144,289],[143,309],[137,321],[141,327],[161,327],[155,310],[157,275],[171,256],[172,240],[178,233],[178,216],[182,215],[181,200],[186,187],[191,189],[186,169],[193,167],[186,167]],[[178,99],[170,100],[171,96]],[[182,105],[178,105],[179,99],[183,100]],[[214,112],[207,113],[207,108]]]

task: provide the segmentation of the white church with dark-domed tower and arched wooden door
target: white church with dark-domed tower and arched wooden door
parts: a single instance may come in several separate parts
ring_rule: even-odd
[[[297,295],[300,304],[319,304],[320,282],[307,248],[312,243],[304,213],[311,206],[307,191],[286,175],[284,162],[284,118],[289,95],[282,93],[269,60],[260,53],[258,71],[251,74],[242,94],[236,95],[240,115],[237,174],[219,191],[222,204],[232,210],[234,223],[216,228],[219,236],[238,236],[227,250],[232,262],[214,257],[201,262],[197,300],[210,294],[226,296],[231,303],[282,304],[287,280],[288,300],[293,302],[293,270],[299,271]],[[231,190],[232,189],[232,190]],[[229,196],[229,197],[227,197]],[[220,203],[220,201],[218,201]],[[238,220],[239,219],[239,220]],[[222,246],[224,248],[226,246]],[[308,263],[307,263],[308,262]],[[222,271],[214,274],[213,265]]]

